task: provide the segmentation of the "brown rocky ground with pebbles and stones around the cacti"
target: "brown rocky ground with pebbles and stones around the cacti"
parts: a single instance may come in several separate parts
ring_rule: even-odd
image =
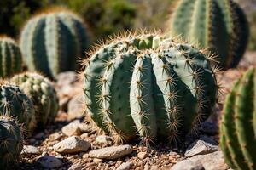
[[[238,69],[218,77],[226,94],[232,82],[250,65],[256,64],[256,53],[247,53]],[[140,144],[113,144],[108,134],[84,122],[83,82],[74,72],[61,73],[55,83],[61,110],[52,125],[26,139],[20,169],[229,169],[218,147],[218,105],[212,119],[204,122],[196,138],[189,138],[183,150],[167,144],[152,148]],[[221,101],[224,100],[224,95]]]

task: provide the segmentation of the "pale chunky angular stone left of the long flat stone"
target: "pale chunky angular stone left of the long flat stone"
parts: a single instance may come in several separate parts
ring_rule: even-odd
[[[86,151],[90,148],[90,143],[79,139],[79,137],[72,136],[53,146],[56,152],[62,154],[71,154]]]

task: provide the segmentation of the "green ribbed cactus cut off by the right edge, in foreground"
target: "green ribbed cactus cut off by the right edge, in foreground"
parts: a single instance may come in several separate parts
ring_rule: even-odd
[[[220,122],[220,146],[233,169],[256,169],[256,68],[238,79],[227,95]]]

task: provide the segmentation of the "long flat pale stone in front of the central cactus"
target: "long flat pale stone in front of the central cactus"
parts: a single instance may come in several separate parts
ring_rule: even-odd
[[[118,159],[119,157],[129,155],[131,154],[131,152],[132,152],[131,145],[125,144],[125,145],[119,145],[119,146],[106,147],[98,150],[92,150],[89,152],[89,156],[100,158],[100,159],[114,160],[114,159]]]

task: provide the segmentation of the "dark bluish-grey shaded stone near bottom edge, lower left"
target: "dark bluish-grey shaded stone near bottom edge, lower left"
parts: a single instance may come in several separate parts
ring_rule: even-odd
[[[62,161],[57,159],[55,156],[40,156],[37,162],[41,167],[44,168],[57,168],[61,167]]]

